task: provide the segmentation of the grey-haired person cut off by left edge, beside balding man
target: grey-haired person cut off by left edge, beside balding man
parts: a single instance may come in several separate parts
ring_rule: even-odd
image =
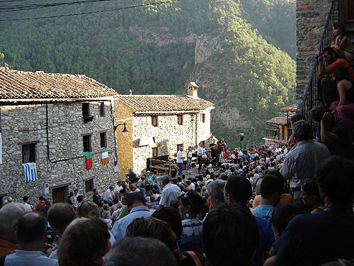
[[[11,203],[0,209],[0,255],[7,256],[17,248],[16,224],[18,218],[25,214],[23,204]]]

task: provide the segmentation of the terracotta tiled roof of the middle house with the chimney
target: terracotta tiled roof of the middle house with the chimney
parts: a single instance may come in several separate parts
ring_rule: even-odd
[[[137,112],[200,111],[214,106],[210,101],[186,95],[118,95],[124,104]]]

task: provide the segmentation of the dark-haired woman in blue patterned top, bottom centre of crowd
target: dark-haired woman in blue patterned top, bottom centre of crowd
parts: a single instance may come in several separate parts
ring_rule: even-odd
[[[181,251],[194,250],[202,254],[202,221],[197,218],[203,207],[202,197],[197,192],[187,192],[178,198],[182,220],[182,234],[179,239]]]

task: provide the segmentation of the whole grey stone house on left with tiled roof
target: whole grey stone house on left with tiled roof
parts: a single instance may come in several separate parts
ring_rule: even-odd
[[[88,196],[119,178],[113,108],[116,92],[84,75],[0,68],[0,195],[35,203],[44,195],[67,201]],[[103,148],[103,149],[102,149]],[[108,150],[108,163],[102,153]],[[91,152],[86,169],[84,152]],[[105,153],[106,155],[107,153]],[[0,157],[0,158],[1,158]],[[23,163],[35,162],[37,180],[25,182]]]

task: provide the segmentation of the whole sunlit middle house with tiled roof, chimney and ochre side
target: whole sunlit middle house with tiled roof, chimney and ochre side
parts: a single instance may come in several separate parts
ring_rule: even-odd
[[[198,86],[188,84],[187,95],[119,95],[116,123],[130,132],[118,136],[120,173],[147,168],[147,158],[175,155],[182,146],[196,148],[210,139],[210,111],[214,104],[198,98]],[[118,131],[119,132],[119,131]],[[206,143],[205,143],[206,144]]]

